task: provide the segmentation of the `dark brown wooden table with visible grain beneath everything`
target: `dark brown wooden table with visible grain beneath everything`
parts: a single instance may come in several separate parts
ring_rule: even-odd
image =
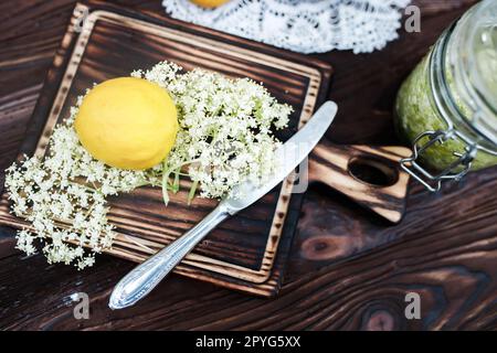
[[[159,0],[115,1],[162,12]],[[402,79],[443,29],[473,0],[414,1],[422,32],[373,54],[318,55],[336,68],[330,98],[340,106],[327,138],[343,143],[398,143],[392,104]],[[75,1],[0,2],[0,169],[23,138],[44,75]],[[286,284],[273,300],[171,276],[136,308],[113,312],[113,286],[134,264],[101,256],[84,271],[50,266],[14,249],[0,229],[0,329],[307,329],[485,330],[497,328],[497,169],[468,175],[431,195],[412,185],[408,214],[391,226],[337,193],[306,195]],[[371,243],[355,254],[355,235]],[[363,239],[362,237],[361,239]],[[337,252],[346,261],[334,263]],[[75,320],[70,296],[87,292],[91,319]],[[405,293],[421,296],[421,320],[406,320]]]

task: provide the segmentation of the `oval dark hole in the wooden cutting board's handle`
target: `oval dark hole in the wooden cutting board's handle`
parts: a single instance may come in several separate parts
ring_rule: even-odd
[[[357,181],[376,188],[387,188],[399,180],[396,165],[383,158],[357,156],[349,160],[349,174]]]

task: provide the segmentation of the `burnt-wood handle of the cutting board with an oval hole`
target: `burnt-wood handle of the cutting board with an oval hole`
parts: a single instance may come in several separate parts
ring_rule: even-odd
[[[321,140],[309,156],[309,182],[321,182],[398,223],[405,212],[409,174],[399,161],[405,147],[339,146]]]

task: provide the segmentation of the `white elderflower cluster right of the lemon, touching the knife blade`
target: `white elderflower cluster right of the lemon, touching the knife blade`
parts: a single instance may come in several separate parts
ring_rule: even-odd
[[[168,89],[178,108],[180,131],[163,178],[188,165],[193,181],[190,195],[199,185],[202,197],[225,196],[247,179],[264,182],[279,162],[274,151],[281,142],[272,129],[288,125],[292,107],[278,104],[248,78],[232,79],[203,69],[180,72],[181,67],[162,62],[131,74]]]

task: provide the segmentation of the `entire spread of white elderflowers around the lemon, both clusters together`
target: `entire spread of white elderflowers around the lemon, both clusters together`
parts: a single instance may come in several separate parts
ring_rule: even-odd
[[[167,62],[131,75],[168,89],[177,105],[180,130],[169,157],[146,171],[95,160],[73,127],[80,97],[71,116],[53,130],[46,156],[25,156],[6,173],[12,212],[31,223],[17,234],[17,247],[28,255],[40,242],[51,264],[92,266],[95,254],[113,245],[107,196],[162,185],[167,203],[168,192],[177,192],[180,175],[188,174],[188,201],[197,188],[203,197],[223,197],[246,179],[264,182],[277,168],[281,142],[272,129],[287,126],[292,108],[278,104],[263,86],[201,69],[182,74],[181,67]]]

